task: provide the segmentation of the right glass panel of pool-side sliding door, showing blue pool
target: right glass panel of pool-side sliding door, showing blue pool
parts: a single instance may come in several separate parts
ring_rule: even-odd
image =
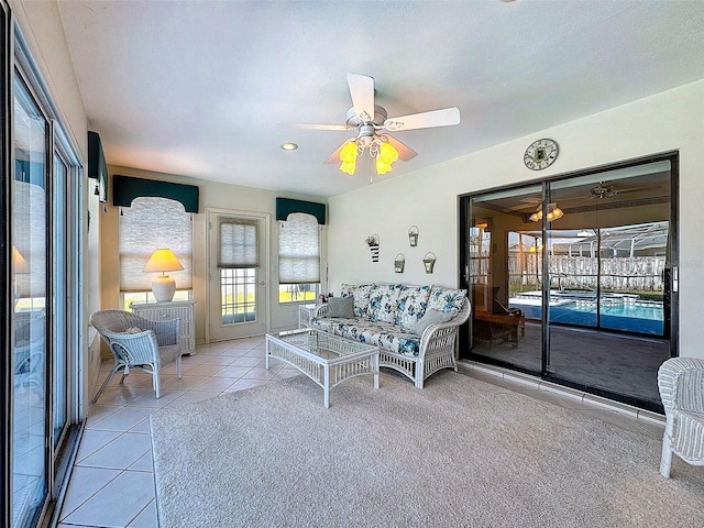
[[[564,216],[546,226],[546,373],[659,405],[657,371],[670,356],[669,162],[552,183],[549,195]]]

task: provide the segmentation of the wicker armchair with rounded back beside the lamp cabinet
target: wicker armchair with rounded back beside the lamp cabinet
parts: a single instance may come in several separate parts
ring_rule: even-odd
[[[163,365],[176,361],[178,377],[182,377],[179,319],[150,321],[129,311],[101,310],[90,316],[90,323],[114,355],[112,371],[92,398],[94,404],[120,369],[123,369],[121,384],[130,374],[130,369],[140,369],[152,374],[157,398],[162,396],[160,371]]]

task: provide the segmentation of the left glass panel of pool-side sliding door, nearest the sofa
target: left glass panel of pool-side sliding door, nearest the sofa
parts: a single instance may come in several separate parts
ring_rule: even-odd
[[[472,354],[540,372],[542,233],[529,220],[542,199],[532,186],[471,200],[468,276]]]

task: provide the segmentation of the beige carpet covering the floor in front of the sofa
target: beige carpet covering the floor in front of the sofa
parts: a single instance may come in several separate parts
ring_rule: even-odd
[[[701,527],[704,469],[660,442],[446,371],[304,376],[152,415],[160,525]]]

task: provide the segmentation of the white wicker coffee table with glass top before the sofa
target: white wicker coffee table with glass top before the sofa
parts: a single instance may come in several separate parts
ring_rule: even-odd
[[[374,375],[378,388],[378,348],[311,329],[266,334],[266,369],[270,358],[295,366],[323,389],[330,407],[330,389],[350,377]]]

